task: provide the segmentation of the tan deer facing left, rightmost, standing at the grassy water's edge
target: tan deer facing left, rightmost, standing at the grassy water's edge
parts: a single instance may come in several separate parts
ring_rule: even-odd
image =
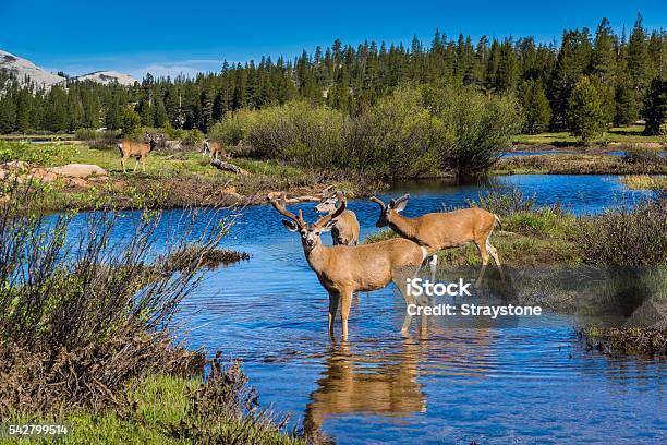
[[[496,222],[500,222],[498,216],[483,208],[463,208],[453,212],[438,212],[422,215],[417,218],[405,218],[400,215],[410,199],[405,194],[397,200],[391,200],[386,205],[379,199],[372,196],[371,201],[380,206],[380,216],[377,227],[389,226],[395,232],[403,238],[416,242],[426,248],[432,255],[429,264],[432,276],[438,264],[436,253],[442,249],[457,248],[474,241],[482,256],[482,278],[488,256],[490,255],[500,269],[498,251],[490,243],[490,236]]]

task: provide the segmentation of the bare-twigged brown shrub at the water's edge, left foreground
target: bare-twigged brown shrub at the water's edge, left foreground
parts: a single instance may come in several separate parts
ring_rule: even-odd
[[[199,353],[167,335],[178,303],[199,282],[198,258],[225,227],[195,231],[196,214],[170,226],[163,249],[197,248],[179,269],[156,257],[160,214],[145,209],[134,231],[112,240],[119,215],[47,216],[44,196],[14,181],[0,213],[0,416],[113,406],[148,373],[201,372]],[[75,240],[75,241],[72,241]],[[160,245],[162,249],[162,245]]]

